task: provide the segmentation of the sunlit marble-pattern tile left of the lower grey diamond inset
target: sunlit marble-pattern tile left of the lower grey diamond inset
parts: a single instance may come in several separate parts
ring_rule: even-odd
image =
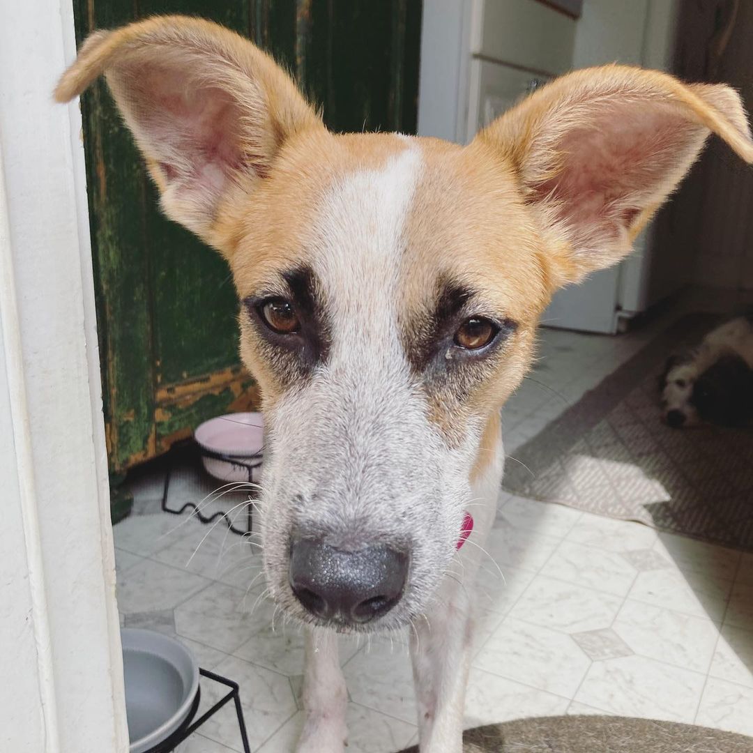
[[[590,663],[569,636],[506,617],[477,654],[473,666],[569,698]]]

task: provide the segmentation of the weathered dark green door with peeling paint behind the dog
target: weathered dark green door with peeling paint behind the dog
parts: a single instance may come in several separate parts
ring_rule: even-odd
[[[420,0],[75,0],[79,42],[153,14],[218,21],[270,50],[335,131],[415,133]],[[255,403],[237,355],[227,264],[160,215],[99,81],[83,98],[111,471]]]

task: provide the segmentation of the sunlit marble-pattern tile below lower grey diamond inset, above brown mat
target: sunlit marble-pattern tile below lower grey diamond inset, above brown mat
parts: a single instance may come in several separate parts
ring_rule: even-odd
[[[575,700],[623,716],[692,722],[704,675],[632,656],[594,662]]]

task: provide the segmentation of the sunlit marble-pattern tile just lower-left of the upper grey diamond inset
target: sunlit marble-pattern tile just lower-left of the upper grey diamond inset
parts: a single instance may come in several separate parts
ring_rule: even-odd
[[[617,553],[563,541],[541,569],[541,575],[625,596],[633,586],[637,571]]]

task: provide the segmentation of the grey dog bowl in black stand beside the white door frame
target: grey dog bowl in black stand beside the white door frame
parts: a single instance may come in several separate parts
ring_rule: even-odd
[[[124,627],[120,641],[130,753],[146,753],[190,724],[199,666],[181,642],[154,630]]]

